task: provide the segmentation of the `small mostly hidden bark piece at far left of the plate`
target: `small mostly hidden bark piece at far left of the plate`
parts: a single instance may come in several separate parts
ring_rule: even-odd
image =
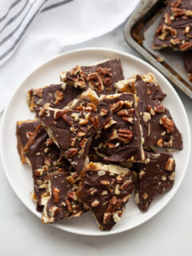
[[[34,133],[34,130],[39,125],[37,120],[26,120],[18,121],[16,125],[16,136],[18,141],[18,154],[20,155],[22,164],[30,164],[29,159],[23,154],[23,148],[26,146],[26,143],[29,141],[30,136]]]

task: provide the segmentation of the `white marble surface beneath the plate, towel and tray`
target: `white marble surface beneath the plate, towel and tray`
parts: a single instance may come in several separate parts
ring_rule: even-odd
[[[127,46],[123,27],[110,34],[76,46],[100,46],[124,50],[139,56]],[[16,72],[16,70],[15,70]],[[192,129],[192,101],[178,91]],[[2,115],[0,115],[1,122]],[[185,159],[183,159],[183,162]],[[192,255],[192,159],[177,194],[154,218],[134,230],[108,237],[85,237],[42,225],[14,194],[0,161],[0,255]],[[14,170],[13,170],[14,171]]]

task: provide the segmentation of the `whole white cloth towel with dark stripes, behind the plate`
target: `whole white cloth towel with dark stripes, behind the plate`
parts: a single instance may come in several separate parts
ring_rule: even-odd
[[[139,0],[1,0],[0,113],[36,66],[119,26]]]

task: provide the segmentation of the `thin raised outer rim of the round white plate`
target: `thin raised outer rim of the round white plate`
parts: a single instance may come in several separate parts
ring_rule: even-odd
[[[83,231],[81,231],[81,230],[70,230],[70,228],[68,226],[62,226],[61,227],[57,223],[55,223],[55,224],[53,223],[51,225],[51,226],[57,227],[60,230],[65,230],[65,231],[70,232],[72,234],[82,234],[82,235],[86,235],[86,236],[103,236],[103,235],[106,236],[106,235],[112,235],[112,234],[120,234],[122,232],[125,232],[125,231],[128,231],[128,230],[132,230],[135,227],[142,225],[144,222],[147,222],[148,220],[150,220],[150,218],[153,218],[156,214],[158,214],[170,202],[170,200],[174,197],[174,195],[177,193],[179,187],[182,184],[182,181],[183,181],[183,179],[184,179],[184,177],[186,175],[186,170],[188,169],[189,160],[190,160],[190,151],[191,151],[190,122],[189,122],[189,118],[188,118],[188,116],[186,114],[185,106],[182,104],[181,98],[178,96],[177,91],[174,89],[174,86],[172,86],[170,84],[169,80],[166,77],[164,77],[164,75],[161,74],[154,66],[152,66],[148,62],[142,60],[141,58],[138,58],[138,57],[134,56],[133,54],[126,53],[126,52],[124,52],[122,50],[114,50],[114,49],[106,48],[106,47],[105,48],[104,47],[85,47],[85,48],[83,47],[83,48],[78,48],[78,49],[74,49],[74,50],[69,50],[69,51],[66,51],[66,52],[64,52],[62,54],[54,55],[54,57],[48,58],[48,60],[46,62],[42,62],[42,64],[40,64],[40,65],[38,65],[38,67],[34,68],[29,74],[26,75],[26,78],[24,78],[22,80],[22,82],[18,85],[16,90],[14,90],[14,93],[13,93],[12,97],[10,98],[10,101],[8,102],[8,104],[6,106],[6,109],[4,110],[4,113],[2,114],[2,122],[1,122],[1,129],[0,129],[0,156],[1,156],[1,160],[2,160],[2,169],[3,169],[4,173],[6,174],[6,178],[7,178],[8,182],[10,183],[11,188],[14,190],[14,194],[17,195],[17,197],[24,204],[24,206],[26,206],[26,208],[28,210],[30,210],[35,216],[37,216],[39,218],[39,213],[35,209],[34,210],[30,209],[30,207],[26,205],[26,202],[23,202],[22,197],[18,194],[17,190],[14,188],[14,184],[13,184],[13,182],[11,182],[11,178],[10,178],[8,172],[6,171],[6,160],[4,159],[3,153],[2,153],[2,149],[3,149],[3,146],[2,146],[2,133],[3,133],[3,127],[5,126],[4,122],[5,122],[5,119],[6,119],[6,112],[10,108],[10,105],[11,105],[12,99],[14,98],[14,95],[17,94],[18,90],[20,90],[20,88],[23,86],[23,84],[26,83],[26,80],[28,78],[30,78],[33,74],[35,74],[35,72],[37,72],[39,69],[41,69],[43,66],[46,66],[50,62],[56,61],[57,58],[62,58],[63,56],[65,56],[67,54],[74,54],[74,53],[83,52],[83,51],[86,51],[86,52],[89,52],[89,51],[103,51],[103,52],[108,52],[108,53],[112,53],[112,54],[120,54],[120,55],[123,55],[126,58],[132,58],[136,62],[140,62],[142,64],[142,66],[147,66],[150,69],[151,73],[153,73],[153,71],[155,71],[155,73],[158,73],[158,76],[160,76],[162,78],[162,80],[164,80],[164,82],[166,82],[166,86],[169,85],[171,87],[171,89],[174,90],[175,97],[178,99],[179,105],[182,107],[182,112],[185,115],[184,118],[186,119],[186,124],[185,124],[185,126],[186,126],[186,134],[187,134],[188,139],[189,139],[189,150],[188,150],[188,154],[186,155],[186,160],[187,160],[186,161],[186,167],[185,167],[184,172],[182,174],[182,178],[178,181],[177,189],[170,196],[170,198],[167,198],[166,202],[164,202],[162,204],[160,209],[158,209],[156,211],[152,211],[152,213],[146,219],[142,220],[142,222],[139,222],[136,225],[130,226],[127,229],[123,229],[123,230],[110,230],[110,231],[106,231],[106,232],[101,231],[101,233],[98,233],[98,234],[84,234]]]

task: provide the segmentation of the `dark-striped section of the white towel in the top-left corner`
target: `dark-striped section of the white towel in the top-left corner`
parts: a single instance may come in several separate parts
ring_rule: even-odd
[[[27,29],[39,12],[62,6],[73,0],[11,0],[0,2],[0,65],[10,58],[22,42]]]

